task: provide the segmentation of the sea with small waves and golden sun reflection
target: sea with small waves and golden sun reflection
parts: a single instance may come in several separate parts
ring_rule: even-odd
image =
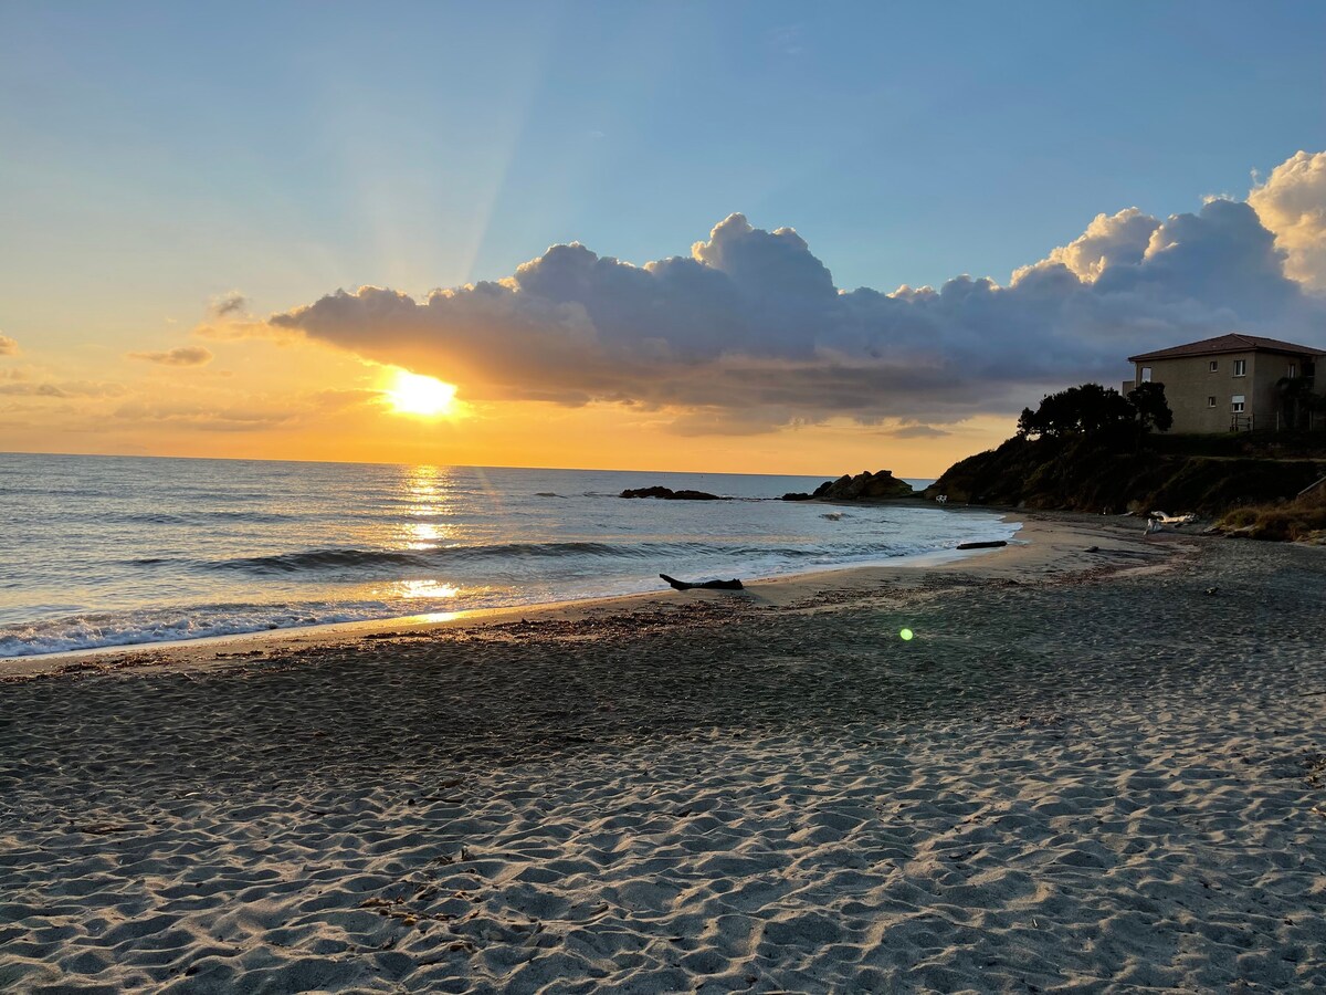
[[[0,657],[774,577],[1008,539],[822,478],[0,454]],[[625,500],[663,484],[732,501]]]

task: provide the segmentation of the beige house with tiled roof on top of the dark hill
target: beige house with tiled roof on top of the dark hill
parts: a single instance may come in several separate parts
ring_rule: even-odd
[[[1228,334],[1130,356],[1138,383],[1163,383],[1174,411],[1175,432],[1224,432],[1285,427],[1282,379],[1302,379],[1313,389],[1326,350],[1277,338]]]

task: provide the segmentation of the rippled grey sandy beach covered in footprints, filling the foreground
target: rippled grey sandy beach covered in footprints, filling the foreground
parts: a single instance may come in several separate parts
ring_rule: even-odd
[[[0,987],[1326,988],[1326,551],[1030,533],[9,671]]]

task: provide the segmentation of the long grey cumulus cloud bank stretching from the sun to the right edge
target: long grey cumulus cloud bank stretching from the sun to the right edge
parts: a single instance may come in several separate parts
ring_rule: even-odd
[[[690,256],[636,267],[553,245],[504,280],[419,300],[337,291],[269,328],[476,399],[667,410],[686,434],[833,417],[915,434],[1050,387],[1113,383],[1148,348],[1229,330],[1319,342],[1326,305],[1286,273],[1288,253],[1250,204],[1212,200],[1164,220],[1099,215],[1006,287],[959,276],[842,291],[796,231],[733,214]]]

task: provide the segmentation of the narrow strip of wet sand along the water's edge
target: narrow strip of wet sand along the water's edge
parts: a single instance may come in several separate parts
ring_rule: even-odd
[[[850,503],[847,503],[850,504]],[[945,509],[961,513],[964,508]],[[980,511],[985,511],[981,508]],[[343,647],[349,642],[365,637],[381,637],[383,633],[400,631],[427,634],[434,631],[472,629],[489,625],[503,625],[513,621],[577,621],[603,613],[626,613],[656,608],[675,608],[699,602],[735,602],[782,608],[808,598],[822,596],[835,589],[870,589],[880,584],[907,584],[916,581],[924,573],[955,573],[960,569],[976,576],[1009,580],[1014,574],[1059,572],[1086,572],[1098,569],[1105,560],[1114,556],[1136,556],[1143,549],[1154,549],[1159,544],[1147,541],[1140,535],[1132,535],[1131,528],[1123,528],[1118,519],[1074,512],[1024,512],[1017,509],[991,509],[1001,513],[1005,523],[1020,519],[1020,528],[1009,544],[996,549],[979,551],[937,551],[899,557],[898,563],[871,565],[829,566],[821,570],[805,570],[745,582],[741,592],[720,592],[696,589],[675,592],[660,588],[655,592],[617,594],[607,597],[587,597],[569,601],[538,602],[529,605],[509,605],[500,608],[465,609],[447,613],[420,616],[394,616],[354,622],[329,622],[282,629],[265,629],[251,633],[229,633],[207,635],[194,639],[170,639],[162,642],[97,646],[58,653],[30,654],[23,657],[0,657],[0,683],[36,677],[78,673],[113,673],[137,670],[141,667],[203,667],[235,663],[244,658],[282,654],[294,650],[316,650],[320,647]],[[1134,521],[1126,519],[1126,521]],[[1012,523],[1009,523],[1012,524]],[[1172,535],[1168,539],[1184,539]],[[1152,540],[1155,537],[1151,537]],[[1083,544],[1081,548],[1078,543]],[[1101,552],[1087,553],[1090,547]],[[1156,564],[1146,564],[1151,568]],[[1140,569],[1136,563],[1115,563],[1113,572]]]

